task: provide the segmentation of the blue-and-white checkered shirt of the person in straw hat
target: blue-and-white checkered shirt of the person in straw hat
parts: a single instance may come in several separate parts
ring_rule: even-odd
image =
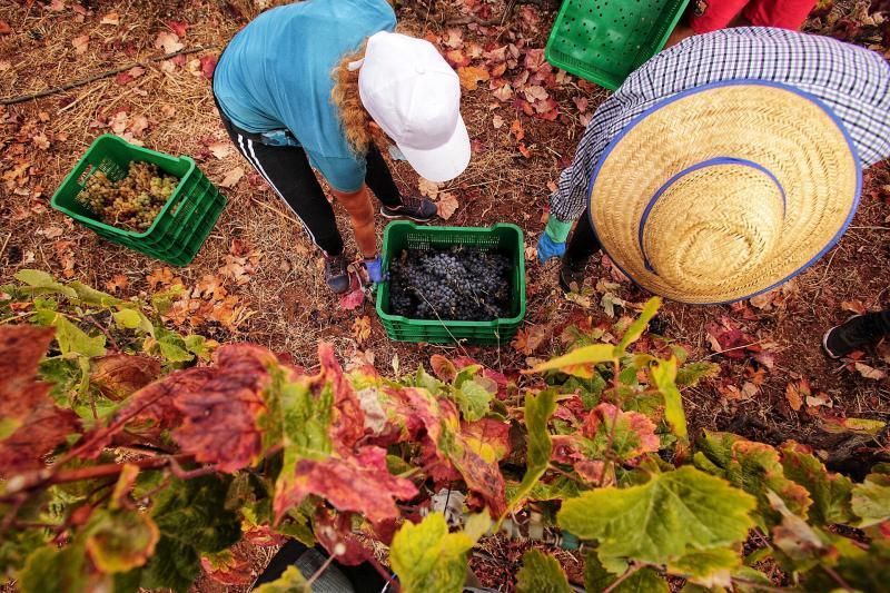
[[[600,106],[560,176],[551,215],[571,221],[584,213],[600,157],[643,111],[678,92],[735,79],[780,82],[820,98],[846,125],[863,167],[890,156],[890,65],[880,55],[784,29],[724,29],[662,51]]]

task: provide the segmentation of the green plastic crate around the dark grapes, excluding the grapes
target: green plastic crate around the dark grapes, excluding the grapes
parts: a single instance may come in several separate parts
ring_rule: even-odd
[[[500,223],[488,228],[471,228],[426,227],[403,220],[390,223],[383,235],[384,269],[389,269],[389,263],[403,249],[431,249],[453,245],[496,249],[513,257],[510,304],[512,316],[491,322],[439,322],[393,315],[389,313],[389,283],[384,281],[377,290],[377,315],[389,339],[496,346],[510,343],[516,334],[525,317],[525,243],[522,229],[515,225]]]

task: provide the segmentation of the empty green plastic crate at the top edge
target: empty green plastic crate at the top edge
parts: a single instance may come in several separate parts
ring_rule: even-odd
[[[661,51],[689,0],[565,0],[544,56],[610,90]]]

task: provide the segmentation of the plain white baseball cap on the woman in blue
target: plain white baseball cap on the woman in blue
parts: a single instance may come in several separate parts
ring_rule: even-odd
[[[374,121],[431,181],[461,175],[469,135],[461,117],[461,81],[423,39],[380,31],[368,39],[358,93]]]

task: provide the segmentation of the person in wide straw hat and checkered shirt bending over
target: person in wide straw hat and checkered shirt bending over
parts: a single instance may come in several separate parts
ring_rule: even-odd
[[[748,298],[840,239],[862,168],[888,155],[879,55],[782,29],[692,37],[597,109],[551,196],[538,258],[562,257],[566,290],[602,247],[673,300]]]

